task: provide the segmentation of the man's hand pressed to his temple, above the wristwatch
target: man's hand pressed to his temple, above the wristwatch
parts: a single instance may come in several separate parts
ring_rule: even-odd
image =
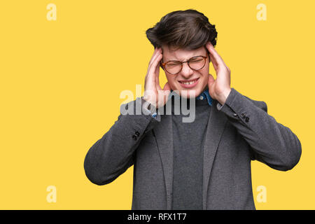
[[[167,103],[169,93],[171,92],[169,83],[165,83],[163,90],[160,87],[159,75],[162,57],[162,48],[155,48],[144,80],[144,100],[150,102],[156,109]]]

